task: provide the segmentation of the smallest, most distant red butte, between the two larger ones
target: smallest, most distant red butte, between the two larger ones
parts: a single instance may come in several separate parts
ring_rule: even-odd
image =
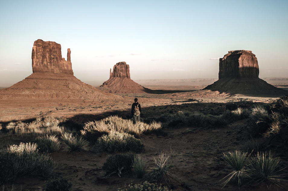
[[[113,72],[110,69],[110,78],[100,89],[110,93],[143,93],[149,90],[130,79],[130,68],[126,62],[116,63]]]

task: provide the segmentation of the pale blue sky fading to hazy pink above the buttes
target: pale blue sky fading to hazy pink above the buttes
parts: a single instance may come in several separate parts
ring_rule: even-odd
[[[34,41],[61,44],[82,82],[125,61],[138,79],[218,78],[228,51],[256,55],[260,78],[288,77],[287,0],[0,0],[0,87],[32,74]]]

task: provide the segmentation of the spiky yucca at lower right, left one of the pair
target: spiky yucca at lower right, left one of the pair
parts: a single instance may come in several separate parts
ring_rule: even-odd
[[[249,177],[248,169],[246,168],[246,164],[248,162],[250,154],[242,151],[232,151],[226,155],[223,153],[222,159],[226,163],[232,166],[234,169],[230,174],[220,180],[222,187],[226,186],[226,184],[230,180],[236,180],[238,186],[241,186],[241,180],[244,177]]]

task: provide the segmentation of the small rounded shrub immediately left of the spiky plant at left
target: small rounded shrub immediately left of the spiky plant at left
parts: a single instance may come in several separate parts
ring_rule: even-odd
[[[54,152],[60,149],[60,141],[56,135],[46,135],[46,137],[38,137],[35,142],[39,146],[41,152]]]

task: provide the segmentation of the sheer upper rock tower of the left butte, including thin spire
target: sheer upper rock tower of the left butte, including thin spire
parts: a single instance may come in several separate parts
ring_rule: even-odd
[[[67,61],[62,58],[61,45],[56,42],[38,39],[32,48],[32,70],[73,75],[71,51],[68,48]]]

